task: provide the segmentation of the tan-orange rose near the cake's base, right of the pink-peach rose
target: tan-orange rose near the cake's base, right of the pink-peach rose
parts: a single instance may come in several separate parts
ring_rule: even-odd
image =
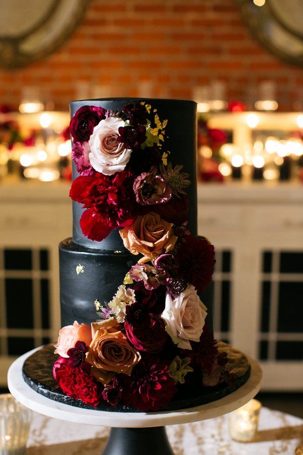
[[[122,326],[114,317],[91,324],[92,341],[86,361],[91,374],[106,386],[115,373],[130,375],[141,355],[121,332]]]

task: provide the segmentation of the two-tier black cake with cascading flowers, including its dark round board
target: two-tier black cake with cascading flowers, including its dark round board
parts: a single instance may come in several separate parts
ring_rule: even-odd
[[[70,107],[62,329],[55,349],[25,362],[25,381],[51,399],[118,412],[221,398],[247,380],[249,365],[213,337],[215,252],[197,236],[196,104],[119,98]]]

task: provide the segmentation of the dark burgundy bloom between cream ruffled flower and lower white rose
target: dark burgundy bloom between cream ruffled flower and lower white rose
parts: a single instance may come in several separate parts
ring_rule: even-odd
[[[149,313],[160,315],[165,308],[165,286],[159,286],[156,289],[146,289],[141,281],[133,286],[136,301],[148,309]]]

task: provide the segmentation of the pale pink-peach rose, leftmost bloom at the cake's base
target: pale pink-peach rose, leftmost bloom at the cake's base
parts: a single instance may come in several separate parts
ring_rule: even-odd
[[[91,327],[75,321],[72,326],[65,326],[60,330],[57,344],[55,344],[55,354],[68,357],[67,351],[73,348],[77,341],[84,341],[89,345],[91,338]]]

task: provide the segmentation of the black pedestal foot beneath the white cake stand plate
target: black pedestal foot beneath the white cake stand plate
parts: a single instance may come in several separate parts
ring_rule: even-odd
[[[102,455],[174,455],[165,427],[112,428]]]

